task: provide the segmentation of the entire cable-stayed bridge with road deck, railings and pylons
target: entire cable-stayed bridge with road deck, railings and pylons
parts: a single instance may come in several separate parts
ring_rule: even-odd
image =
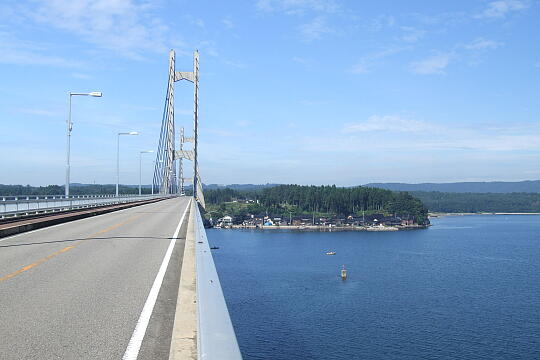
[[[177,71],[169,54],[155,194],[69,195],[68,148],[66,194],[0,196],[0,358],[241,359],[201,217],[193,60]],[[181,81],[192,136],[175,128]]]

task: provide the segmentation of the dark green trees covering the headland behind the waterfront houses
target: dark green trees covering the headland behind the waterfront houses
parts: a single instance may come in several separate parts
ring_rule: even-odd
[[[229,188],[206,190],[207,213],[213,218],[223,215],[244,217],[247,214],[348,216],[383,213],[427,222],[427,209],[406,192],[352,187],[279,185],[259,191]]]

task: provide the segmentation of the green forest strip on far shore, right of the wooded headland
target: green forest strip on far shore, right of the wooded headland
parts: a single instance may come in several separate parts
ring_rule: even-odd
[[[430,212],[540,212],[540,193],[446,193],[415,191]]]

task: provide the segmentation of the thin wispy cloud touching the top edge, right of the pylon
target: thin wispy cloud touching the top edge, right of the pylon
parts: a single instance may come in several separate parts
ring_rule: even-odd
[[[333,13],[339,9],[339,5],[333,0],[259,0],[256,7],[261,11],[281,11],[287,15],[303,14],[307,11]]]

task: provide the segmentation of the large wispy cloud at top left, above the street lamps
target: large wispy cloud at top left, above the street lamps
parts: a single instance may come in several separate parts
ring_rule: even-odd
[[[144,52],[167,50],[167,27],[151,10],[148,3],[133,0],[36,0],[24,15],[102,49],[140,59]]]

